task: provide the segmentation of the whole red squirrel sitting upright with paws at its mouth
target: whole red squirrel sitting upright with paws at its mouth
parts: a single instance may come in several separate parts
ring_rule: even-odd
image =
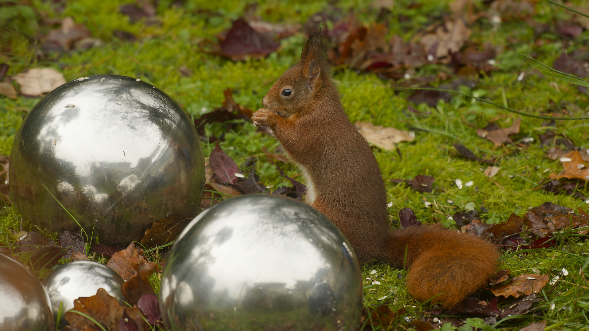
[[[335,223],[361,264],[378,259],[399,269],[411,266],[409,293],[455,306],[494,274],[495,246],[439,225],[389,230],[378,162],[343,111],[326,49],[321,36],[309,38],[300,62],[264,96],[266,108],[253,114],[254,124],[272,129],[303,172],[305,202]]]

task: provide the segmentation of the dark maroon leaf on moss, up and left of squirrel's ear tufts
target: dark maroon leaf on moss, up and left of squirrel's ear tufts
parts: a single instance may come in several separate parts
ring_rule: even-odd
[[[245,61],[247,58],[261,59],[276,51],[279,42],[260,34],[243,19],[233,21],[225,39],[220,43],[220,55],[233,61]]]

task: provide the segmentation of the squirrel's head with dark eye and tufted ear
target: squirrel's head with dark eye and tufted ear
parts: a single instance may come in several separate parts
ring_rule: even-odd
[[[263,105],[284,118],[317,101],[322,88],[333,85],[326,56],[327,43],[319,32],[307,40],[300,62],[288,69],[264,96]]]

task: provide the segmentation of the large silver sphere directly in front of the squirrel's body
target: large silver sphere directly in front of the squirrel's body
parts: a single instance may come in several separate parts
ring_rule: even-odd
[[[175,330],[356,330],[362,279],[348,240],[283,196],[244,195],[192,220],[168,255],[161,315]]]

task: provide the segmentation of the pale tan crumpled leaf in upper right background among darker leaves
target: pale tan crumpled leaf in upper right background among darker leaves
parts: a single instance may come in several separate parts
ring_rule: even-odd
[[[441,58],[448,55],[448,51],[458,52],[471,36],[471,29],[466,28],[462,19],[446,21],[444,26],[438,26],[435,33],[426,34],[421,37],[423,49],[431,49],[436,43],[436,56]]]

